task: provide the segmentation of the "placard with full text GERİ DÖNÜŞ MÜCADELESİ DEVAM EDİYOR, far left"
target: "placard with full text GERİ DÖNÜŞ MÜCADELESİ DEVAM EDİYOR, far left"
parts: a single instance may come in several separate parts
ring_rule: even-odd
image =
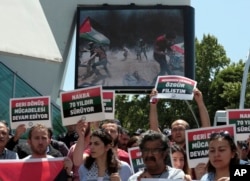
[[[11,100],[12,122],[39,121],[48,119],[48,98],[26,98]]]

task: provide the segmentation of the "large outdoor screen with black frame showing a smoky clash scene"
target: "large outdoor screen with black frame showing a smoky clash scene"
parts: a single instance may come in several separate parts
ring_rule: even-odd
[[[148,92],[158,75],[194,79],[190,6],[77,7],[75,88]]]

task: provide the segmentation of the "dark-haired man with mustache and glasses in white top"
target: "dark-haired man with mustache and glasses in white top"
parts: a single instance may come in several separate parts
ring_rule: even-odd
[[[182,170],[165,164],[169,147],[164,134],[153,130],[145,132],[139,147],[145,168],[132,175],[128,181],[140,181],[142,178],[184,179]]]

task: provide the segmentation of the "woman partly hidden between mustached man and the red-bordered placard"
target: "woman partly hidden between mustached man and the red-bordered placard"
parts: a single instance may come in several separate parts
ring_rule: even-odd
[[[179,145],[173,144],[170,147],[171,152],[171,162],[174,168],[183,170],[185,175],[185,180],[191,181],[191,172],[188,166],[186,151]]]

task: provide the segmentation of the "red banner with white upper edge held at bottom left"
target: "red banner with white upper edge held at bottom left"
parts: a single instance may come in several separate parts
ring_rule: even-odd
[[[63,157],[0,161],[2,181],[52,181],[63,169]]]

